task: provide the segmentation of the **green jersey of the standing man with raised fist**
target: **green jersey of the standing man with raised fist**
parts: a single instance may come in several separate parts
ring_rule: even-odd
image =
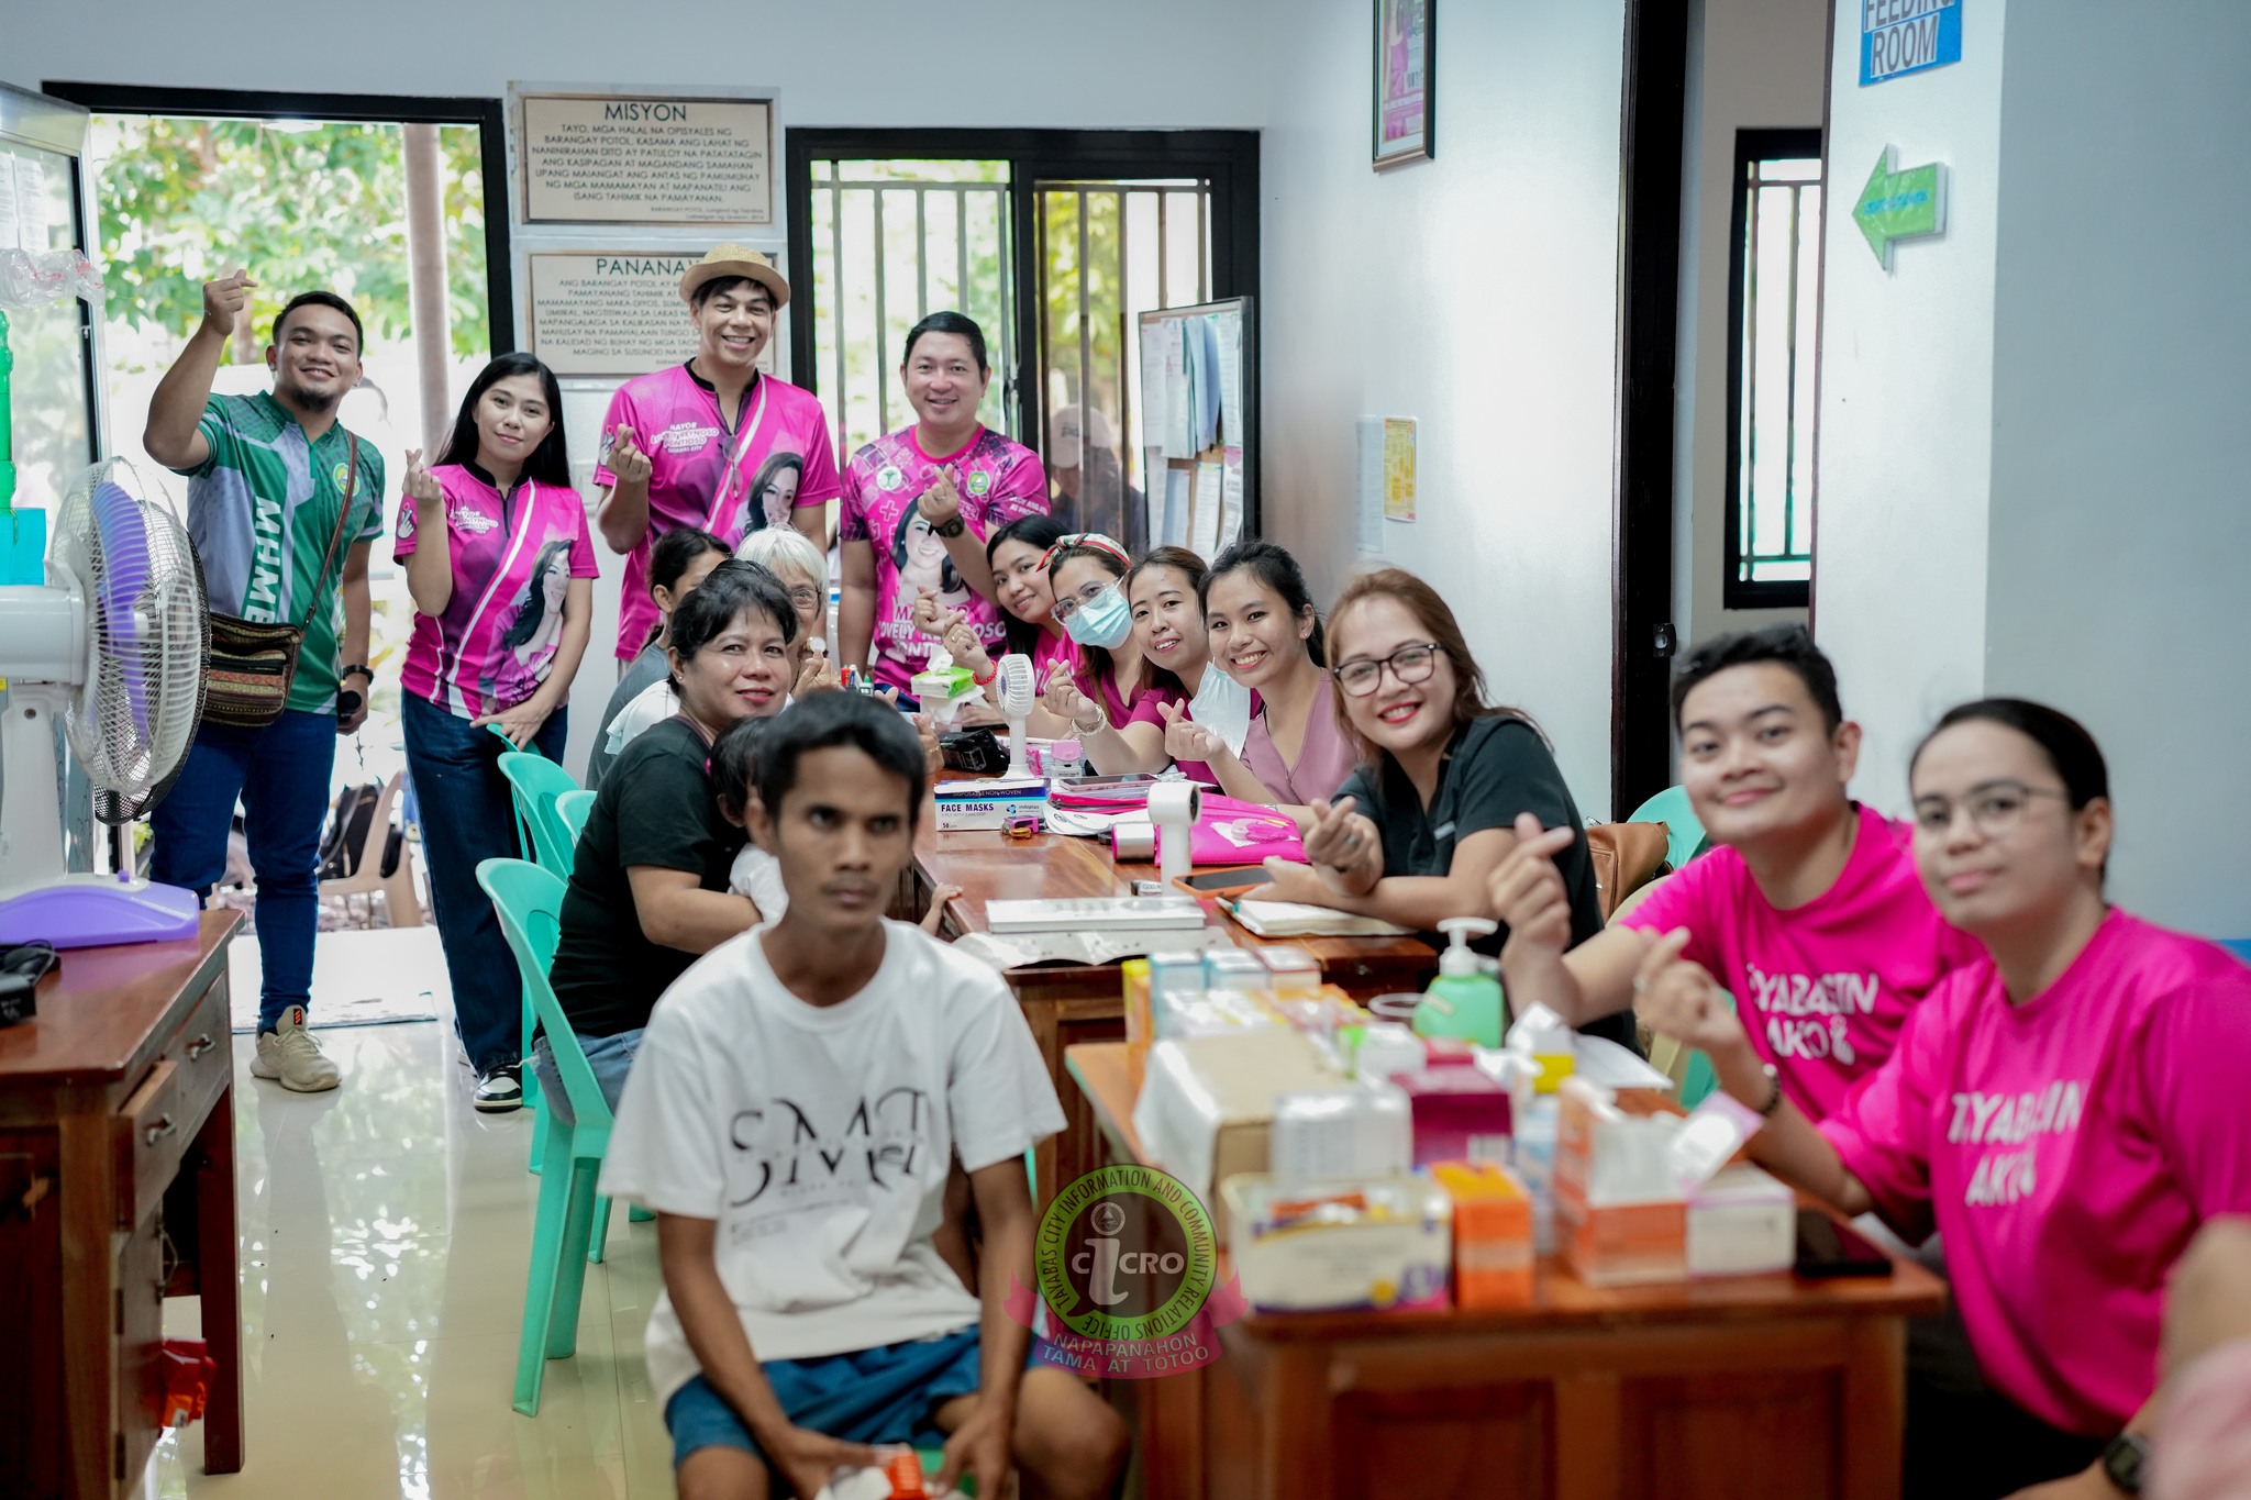
[[[212,609],[245,621],[304,623],[304,650],[288,706],[335,711],[344,618],[344,553],[383,535],[383,457],[360,439],[351,517],[322,578],[322,555],[344,504],[351,434],[342,423],[317,441],[270,394],[212,396],[196,432],[212,445],[187,475],[187,535],[203,562]],[[320,589],[315,600],[313,589]],[[311,621],[306,612],[311,609]]]

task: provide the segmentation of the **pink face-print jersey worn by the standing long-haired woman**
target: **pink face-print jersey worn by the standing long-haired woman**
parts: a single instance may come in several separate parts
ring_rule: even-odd
[[[488,479],[457,463],[430,477],[446,493],[452,598],[446,614],[414,612],[401,686],[473,720],[513,708],[547,681],[570,580],[597,573],[594,537],[579,490],[527,479],[502,499]],[[414,499],[401,497],[392,555],[405,562],[419,540]]]

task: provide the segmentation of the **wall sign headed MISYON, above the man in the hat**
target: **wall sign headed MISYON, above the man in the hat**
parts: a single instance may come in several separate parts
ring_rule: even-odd
[[[524,223],[770,225],[763,99],[524,94]]]

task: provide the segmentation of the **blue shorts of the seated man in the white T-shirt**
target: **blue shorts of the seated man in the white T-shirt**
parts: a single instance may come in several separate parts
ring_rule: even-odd
[[[1033,1363],[1035,1356],[1024,1367]],[[761,1370],[790,1426],[849,1444],[941,1448],[945,1435],[930,1419],[977,1390],[977,1325],[851,1354],[772,1358]],[[664,1403],[664,1426],[673,1435],[673,1469],[698,1448],[759,1453],[750,1428],[700,1374]]]

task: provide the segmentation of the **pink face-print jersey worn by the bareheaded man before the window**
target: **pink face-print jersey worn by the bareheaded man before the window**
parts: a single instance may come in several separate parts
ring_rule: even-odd
[[[945,555],[945,540],[934,535],[916,510],[914,501],[941,468],[952,470],[954,488],[961,490],[961,519],[979,540],[1013,519],[1047,515],[1047,470],[1040,468],[1040,454],[990,427],[979,427],[961,452],[936,459],[914,441],[914,427],[889,432],[853,454],[844,466],[837,535],[844,542],[867,542],[876,553],[876,636],[869,668],[876,681],[903,693],[936,645],[914,630],[914,600],[921,589],[939,589],[943,609],[968,614],[990,654],[999,654],[1004,639],[999,605],[970,589]]]

